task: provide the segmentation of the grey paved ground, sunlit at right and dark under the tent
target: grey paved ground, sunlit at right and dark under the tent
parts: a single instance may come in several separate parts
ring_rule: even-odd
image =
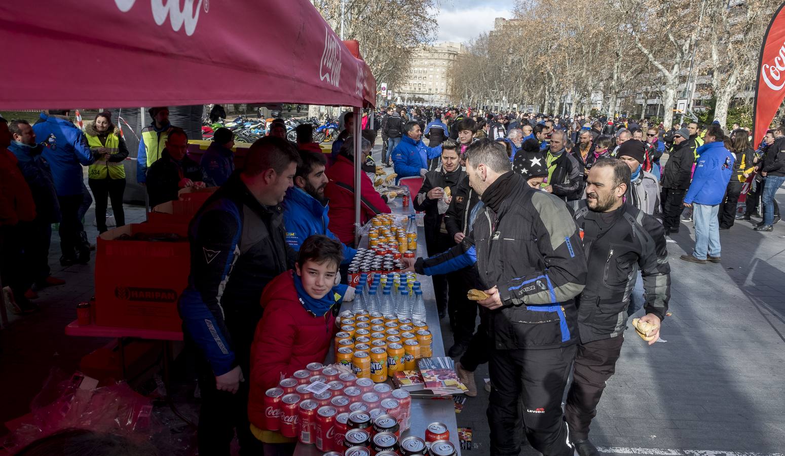
[[[783,192],[778,199],[785,204]],[[126,218],[141,221],[144,211],[129,206]],[[90,210],[87,231],[95,237],[92,221]],[[604,454],[785,453],[785,225],[758,233],[738,222],[721,232],[722,263],[705,265],[678,259],[694,239],[692,223],[684,225],[668,243],[673,316],[663,323],[666,342],[648,347],[628,330],[591,438]],[[11,316],[9,329],[0,331],[0,421],[29,410],[52,367],[71,373],[82,356],[107,343],[63,334],[75,305],[93,294],[93,262],[61,268],[59,256],[55,233],[50,264],[68,284],[43,290],[41,312]],[[449,334],[446,322],[442,330]],[[445,345],[451,346],[448,336]],[[487,378],[487,365],[476,378]],[[465,454],[490,454],[486,407],[480,385],[458,415],[458,425],[474,434],[476,447]]]

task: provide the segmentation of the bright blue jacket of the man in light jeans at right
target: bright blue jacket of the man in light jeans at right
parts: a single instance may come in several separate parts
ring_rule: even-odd
[[[700,157],[685,202],[716,206],[725,196],[736,159],[722,141],[703,144],[696,152]]]

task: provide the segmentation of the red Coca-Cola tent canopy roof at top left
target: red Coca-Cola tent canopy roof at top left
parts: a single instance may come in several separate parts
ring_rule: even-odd
[[[309,0],[0,2],[0,42],[3,110],[376,98]]]

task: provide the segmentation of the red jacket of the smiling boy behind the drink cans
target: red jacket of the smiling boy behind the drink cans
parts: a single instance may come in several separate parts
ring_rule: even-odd
[[[265,429],[265,392],[308,363],[323,363],[335,333],[332,312],[314,317],[294,289],[294,271],[283,272],[265,286],[265,308],[250,348],[248,419]]]

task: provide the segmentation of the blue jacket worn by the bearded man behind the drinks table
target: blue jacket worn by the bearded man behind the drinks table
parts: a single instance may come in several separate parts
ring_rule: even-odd
[[[327,211],[330,206],[317,201],[314,197],[299,187],[292,187],[287,190],[287,197],[283,199],[283,226],[287,231],[287,244],[299,252],[300,246],[310,235],[326,235],[330,239],[338,239],[333,232],[330,232],[330,217]],[[357,250],[341,243],[343,246],[343,264],[349,264],[357,253]]]

